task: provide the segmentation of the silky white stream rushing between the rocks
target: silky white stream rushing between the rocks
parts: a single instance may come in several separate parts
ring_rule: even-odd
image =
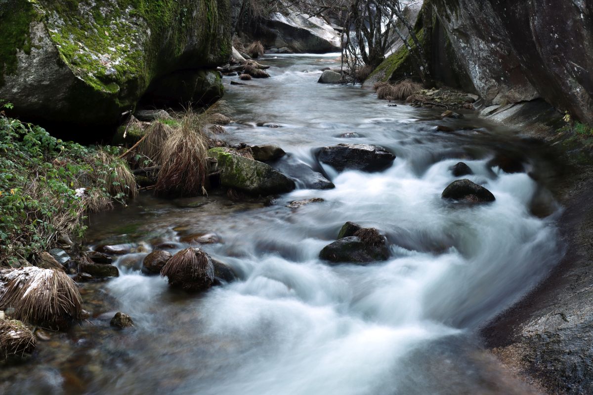
[[[441,120],[441,109],[390,107],[360,86],[317,84],[337,56],[267,56],[260,62],[272,78],[240,86],[225,77],[237,123],[216,135],[278,145],[288,155],[275,166],[311,166],[336,188],[310,190],[297,177],[297,190],[273,205],[231,201],[225,191],[176,200],[144,192],[130,207],[91,216],[90,248],[129,243],[134,252],[117,257],[119,278],[81,284],[91,318],[0,372],[0,393],[538,393],[484,351],[476,332],[562,255],[547,147],[473,113]],[[338,143],[377,144],[397,158],[382,172],[338,174],[314,156]],[[527,171],[486,165],[501,152],[524,158]],[[495,202],[441,199],[455,180],[449,168],[462,160]],[[286,207],[314,197],[324,201]],[[320,261],[346,221],[380,230],[391,258]],[[189,295],[142,274],[156,245],[176,252],[187,247],[180,237],[195,233],[221,238],[203,249],[240,280]],[[135,327],[110,327],[116,311]]]

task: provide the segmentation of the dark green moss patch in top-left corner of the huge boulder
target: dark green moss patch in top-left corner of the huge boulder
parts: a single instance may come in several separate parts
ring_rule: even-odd
[[[31,22],[39,20],[30,2],[0,0],[0,86],[17,71],[17,53],[31,53]]]

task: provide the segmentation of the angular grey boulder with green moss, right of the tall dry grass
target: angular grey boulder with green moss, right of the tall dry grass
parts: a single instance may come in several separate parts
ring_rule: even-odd
[[[254,195],[290,192],[295,183],[266,163],[235,155],[225,148],[212,148],[208,156],[216,159],[221,184]]]

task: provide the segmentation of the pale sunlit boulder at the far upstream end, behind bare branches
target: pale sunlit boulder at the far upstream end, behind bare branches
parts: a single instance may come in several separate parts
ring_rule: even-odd
[[[284,15],[283,15],[284,14]],[[340,52],[340,35],[324,20],[286,9],[264,18],[251,18],[241,25],[241,33],[260,40],[266,47],[295,53]]]

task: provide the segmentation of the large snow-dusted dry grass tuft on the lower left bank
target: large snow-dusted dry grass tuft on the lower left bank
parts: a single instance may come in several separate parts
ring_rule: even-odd
[[[0,309],[12,307],[18,320],[65,327],[81,319],[82,298],[65,272],[27,267],[2,271],[0,280]]]

